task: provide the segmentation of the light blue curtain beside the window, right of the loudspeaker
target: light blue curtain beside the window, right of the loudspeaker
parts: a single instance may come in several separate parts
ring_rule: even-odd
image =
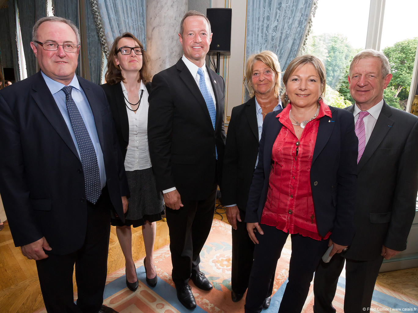
[[[297,56],[316,0],[248,0],[246,57],[270,50],[282,71]]]

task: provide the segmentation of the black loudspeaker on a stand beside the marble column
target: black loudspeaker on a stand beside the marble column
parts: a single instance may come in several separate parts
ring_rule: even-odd
[[[232,9],[208,8],[206,16],[212,28],[212,42],[209,47],[209,56],[231,55],[231,18]]]

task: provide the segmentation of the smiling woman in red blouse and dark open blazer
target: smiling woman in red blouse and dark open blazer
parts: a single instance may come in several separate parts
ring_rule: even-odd
[[[260,312],[289,234],[292,255],[279,313],[301,312],[316,266],[354,236],[357,136],[348,111],[327,106],[324,64],[306,55],[283,75],[285,109],[264,119],[247,203],[256,244],[245,312]],[[277,114],[278,113],[278,114]]]

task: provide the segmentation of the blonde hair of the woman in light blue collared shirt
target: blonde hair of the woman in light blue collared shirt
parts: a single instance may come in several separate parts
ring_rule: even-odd
[[[250,97],[253,97],[255,95],[255,90],[251,84],[252,67],[254,66],[255,61],[263,62],[276,74],[276,81],[274,84],[274,96],[278,98],[280,96],[282,72],[280,71],[280,63],[277,58],[277,55],[268,50],[262,51],[257,54],[252,54],[248,57],[247,67],[245,70],[245,82],[247,83],[247,89]]]

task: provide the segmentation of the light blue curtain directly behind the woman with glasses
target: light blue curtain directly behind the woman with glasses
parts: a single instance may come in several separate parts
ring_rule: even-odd
[[[145,0],[91,0],[97,6],[99,17],[96,19],[99,35],[104,33],[107,49],[113,40],[122,33],[130,32],[146,48]],[[106,55],[108,50],[104,49]]]

